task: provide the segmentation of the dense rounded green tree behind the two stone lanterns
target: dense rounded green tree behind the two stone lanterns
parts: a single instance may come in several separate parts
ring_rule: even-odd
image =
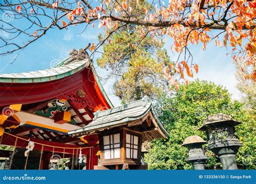
[[[238,137],[244,143],[237,153],[239,167],[255,169],[255,118],[252,118],[243,108],[242,103],[231,101],[228,91],[212,82],[199,81],[182,84],[174,96],[162,95],[156,105],[160,121],[164,124],[170,136],[166,139],[154,140],[145,161],[150,169],[192,169],[185,161],[187,148],[181,147],[185,138],[198,135],[207,140],[206,133],[197,129],[207,116],[224,113],[232,115],[242,124],[236,127]],[[207,146],[207,145],[205,145]],[[217,157],[207,151],[209,159],[207,168],[221,167]],[[251,159],[251,160],[250,160]],[[249,161],[248,161],[249,160]]]

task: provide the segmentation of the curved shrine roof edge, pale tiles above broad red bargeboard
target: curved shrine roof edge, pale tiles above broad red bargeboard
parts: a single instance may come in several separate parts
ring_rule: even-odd
[[[0,74],[0,107],[47,101],[78,90],[84,91],[93,111],[112,107],[84,49],[73,49],[69,58],[50,69]]]

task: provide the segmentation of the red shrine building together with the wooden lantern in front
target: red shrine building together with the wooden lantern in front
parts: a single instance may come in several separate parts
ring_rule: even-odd
[[[86,49],[50,69],[0,74],[1,169],[147,168],[142,145],[168,133],[148,97],[113,107]]]

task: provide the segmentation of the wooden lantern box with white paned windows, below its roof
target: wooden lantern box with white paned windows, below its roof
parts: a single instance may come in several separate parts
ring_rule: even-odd
[[[142,132],[119,128],[99,135],[100,165],[141,165]]]

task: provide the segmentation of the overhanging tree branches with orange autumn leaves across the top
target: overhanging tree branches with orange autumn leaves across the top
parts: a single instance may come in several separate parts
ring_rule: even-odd
[[[174,76],[185,79],[184,75],[193,77],[193,73],[198,72],[199,66],[192,60],[188,49],[191,44],[200,43],[202,49],[206,49],[210,41],[215,41],[216,46],[231,47],[234,61],[245,60],[241,63],[241,70],[244,65],[255,68],[255,1],[19,0],[3,1],[0,8],[3,12],[0,29],[12,34],[10,38],[0,38],[1,55],[21,51],[50,29],[68,29],[79,24],[111,30],[105,31],[99,43],[92,44],[90,49],[95,52],[106,41],[111,42],[111,34],[123,26],[137,25],[140,38],[127,47],[136,48],[148,35],[169,36],[174,41],[170,48],[172,52],[183,53],[184,56],[164,68],[166,79],[177,88],[179,84]],[[18,27],[15,21],[24,21],[26,26]],[[221,34],[224,39],[220,39],[223,38]],[[15,41],[19,37],[22,41]],[[245,77],[255,81],[256,71]]]

